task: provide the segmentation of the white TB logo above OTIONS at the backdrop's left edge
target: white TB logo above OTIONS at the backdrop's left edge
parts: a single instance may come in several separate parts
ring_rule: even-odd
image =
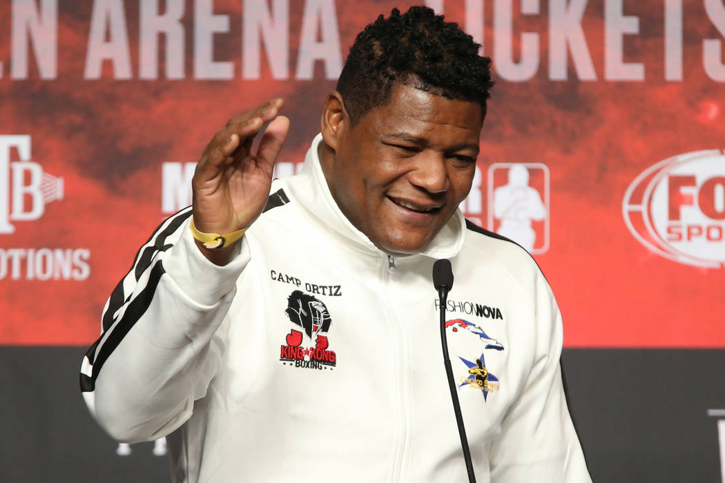
[[[20,161],[10,162],[12,148]],[[46,203],[62,199],[63,178],[30,161],[30,135],[0,135],[0,234],[14,233],[11,222],[36,220]]]

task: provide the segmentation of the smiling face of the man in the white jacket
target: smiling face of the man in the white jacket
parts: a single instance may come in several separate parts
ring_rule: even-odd
[[[476,172],[481,106],[395,85],[336,138],[323,164],[345,216],[386,253],[423,250],[468,196]]]

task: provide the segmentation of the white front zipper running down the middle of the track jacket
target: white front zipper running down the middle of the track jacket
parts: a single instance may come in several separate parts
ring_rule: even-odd
[[[393,472],[392,472],[392,482],[397,483],[400,481],[400,477],[402,474],[402,464],[403,459],[405,455],[405,445],[406,445],[406,439],[407,439],[407,429],[408,429],[408,415],[407,415],[407,380],[405,377],[406,371],[407,371],[407,356],[405,353],[405,344],[404,344],[404,335],[403,330],[400,325],[400,322],[397,319],[397,316],[395,316],[394,311],[392,310],[392,298],[391,298],[391,292],[389,290],[389,283],[390,283],[390,277],[392,274],[395,274],[397,272],[397,265],[395,264],[395,258],[392,255],[387,255],[387,267],[384,268],[383,272],[383,282],[384,282],[384,310],[387,313],[388,319],[391,321],[391,323],[394,325],[395,330],[397,331],[397,341],[398,341],[398,353],[400,355],[399,364],[397,366],[399,367],[399,370],[397,371],[397,377],[395,380],[395,386],[398,390],[397,392],[397,398],[399,400],[399,406],[397,411],[397,417],[398,417],[398,437],[397,437],[397,445],[395,448],[394,453],[394,461],[393,461]]]

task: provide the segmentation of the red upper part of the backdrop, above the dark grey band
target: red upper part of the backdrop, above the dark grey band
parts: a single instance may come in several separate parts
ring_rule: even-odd
[[[482,33],[494,62],[480,177],[466,211],[500,227],[489,190],[505,184],[510,164],[526,167],[546,212],[529,220],[534,256],[563,311],[568,347],[725,348],[725,156],[679,168],[695,177],[692,186],[671,188],[673,173],[663,173],[668,196],[640,195],[645,220],[634,232],[623,209],[646,169],[725,148],[725,7],[682,3],[431,2],[476,38]],[[215,130],[283,97],[292,127],[281,161],[301,161],[355,34],[413,2],[159,2],[168,42],[142,35],[154,19],[138,4],[60,2],[55,16],[51,0],[0,4],[0,344],[91,343],[138,246],[186,203],[185,163]],[[244,21],[251,9],[274,22],[254,30]],[[213,39],[206,51],[204,38]],[[204,67],[210,52],[228,64]],[[698,200],[710,207],[704,215]],[[670,206],[681,219],[666,223],[705,229],[692,230],[691,241],[709,266],[638,240],[635,232]],[[667,253],[683,246],[659,243]]]

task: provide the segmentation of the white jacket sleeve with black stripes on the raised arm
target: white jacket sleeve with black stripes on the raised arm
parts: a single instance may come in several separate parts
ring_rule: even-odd
[[[225,316],[249,261],[242,239],[226,266],[196,248],[191,208],[159,226],[103,311],[80,388],[88,409],[121,442],[154,440],[183,424],[224,352]]]

